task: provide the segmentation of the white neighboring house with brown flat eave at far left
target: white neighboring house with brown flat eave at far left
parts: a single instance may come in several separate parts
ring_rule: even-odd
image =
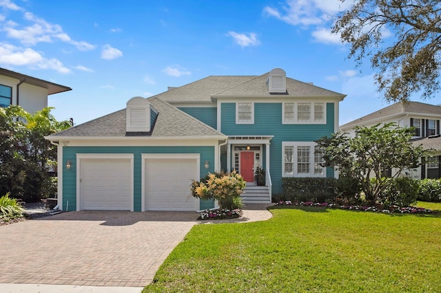
[[[0,107],[19,105],[34,113],[48,107],[48,95],[70,90],[64,85],[0,68]]]

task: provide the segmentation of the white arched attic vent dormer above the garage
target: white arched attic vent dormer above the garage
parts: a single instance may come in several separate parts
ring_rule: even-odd
[[[134,97],[127,102],[126,108],[127,132],[150,131],[150,102],[145,98]]]

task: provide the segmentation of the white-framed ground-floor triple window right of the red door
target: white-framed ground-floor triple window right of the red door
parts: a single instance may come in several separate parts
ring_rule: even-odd
[[[325,177],[322,153],[315,142],[283,142],[284,177]]]

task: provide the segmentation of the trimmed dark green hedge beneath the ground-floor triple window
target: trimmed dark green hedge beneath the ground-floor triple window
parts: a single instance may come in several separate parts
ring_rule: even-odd
[[[335,178],[284,177],[282,197],[299,202],[325,202],[334,199]]]

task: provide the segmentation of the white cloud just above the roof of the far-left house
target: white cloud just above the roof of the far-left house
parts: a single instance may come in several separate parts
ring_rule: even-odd
[[[39,52],[31,48],[23,49],[5,43],[0,43],[0,64],[15,66],[28,65],[40,69],[53,69],[62,74],[70,72],[70,69],[55,58],[44,58]]]

